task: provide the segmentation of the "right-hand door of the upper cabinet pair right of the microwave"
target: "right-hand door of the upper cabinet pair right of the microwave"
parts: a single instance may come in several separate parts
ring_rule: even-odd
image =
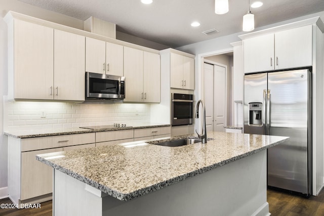
[[[160,102],[160,55],[144,52],[144,101]]]

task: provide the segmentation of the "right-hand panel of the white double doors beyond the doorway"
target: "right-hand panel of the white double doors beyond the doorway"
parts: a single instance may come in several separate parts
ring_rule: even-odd
[[[214,131],[224,131],[226,121],[226,68],[214,65]]]

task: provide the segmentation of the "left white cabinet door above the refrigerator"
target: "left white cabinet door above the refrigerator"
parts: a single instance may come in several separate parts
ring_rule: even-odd
[[[274,34],[244,40],[244,72],[274,69]]]

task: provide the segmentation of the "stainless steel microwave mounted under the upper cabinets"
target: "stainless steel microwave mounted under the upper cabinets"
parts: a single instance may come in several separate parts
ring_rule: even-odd
[[[124,99],[125,76],[86,72],[86,99]]]

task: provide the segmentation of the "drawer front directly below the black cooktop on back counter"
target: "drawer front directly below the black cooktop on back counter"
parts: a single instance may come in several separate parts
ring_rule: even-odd
[[[96,143],[134,138],[134,130],[96,132]]]

